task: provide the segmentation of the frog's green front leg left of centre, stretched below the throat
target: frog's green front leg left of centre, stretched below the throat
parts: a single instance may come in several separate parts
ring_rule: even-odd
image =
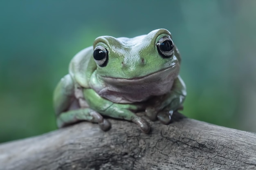
[[[140,110],[142,106],[135,104],[113,103],[107,99],[103,99],[93,89],[84,89],[83,93],[86,102],[88,102],[90,108],[93,110],[109,117],[132,121],[139,125],[140,129],[145,133],[150,131],[148,122],[132,112]]]

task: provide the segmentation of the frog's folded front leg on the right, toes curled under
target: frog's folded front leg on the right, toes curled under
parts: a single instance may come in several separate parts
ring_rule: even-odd
[[[146,108],[146,115],[151,120],[158,118],[162,123],[168,124],[171,121],[173,111],[181,108],[185,97],[186,86],[181,77],[178,76],[169,93],[156,96],[149,101],[151,105]]]

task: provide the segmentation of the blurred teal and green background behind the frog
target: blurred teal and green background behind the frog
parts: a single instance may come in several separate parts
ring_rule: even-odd
[[[256,132],[255,0],[1,0],[0,142],[56,129],[52,92],[101,35],[168,29],[182,55],[182,112]]]

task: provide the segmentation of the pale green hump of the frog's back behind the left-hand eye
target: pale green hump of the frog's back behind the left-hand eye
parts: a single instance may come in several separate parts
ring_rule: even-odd
[[[71,60],[69,74],[74,82],[84,88],[89,88],[89,80],[97,66],[93,60],[93,47],[81,50]]]

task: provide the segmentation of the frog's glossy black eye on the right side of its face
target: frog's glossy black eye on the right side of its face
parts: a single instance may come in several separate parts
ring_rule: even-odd
[[[162,37],[158,40],[156,45],[157,51],[162,57],[169,58],[173,55],[174,44],[171,38]]]

